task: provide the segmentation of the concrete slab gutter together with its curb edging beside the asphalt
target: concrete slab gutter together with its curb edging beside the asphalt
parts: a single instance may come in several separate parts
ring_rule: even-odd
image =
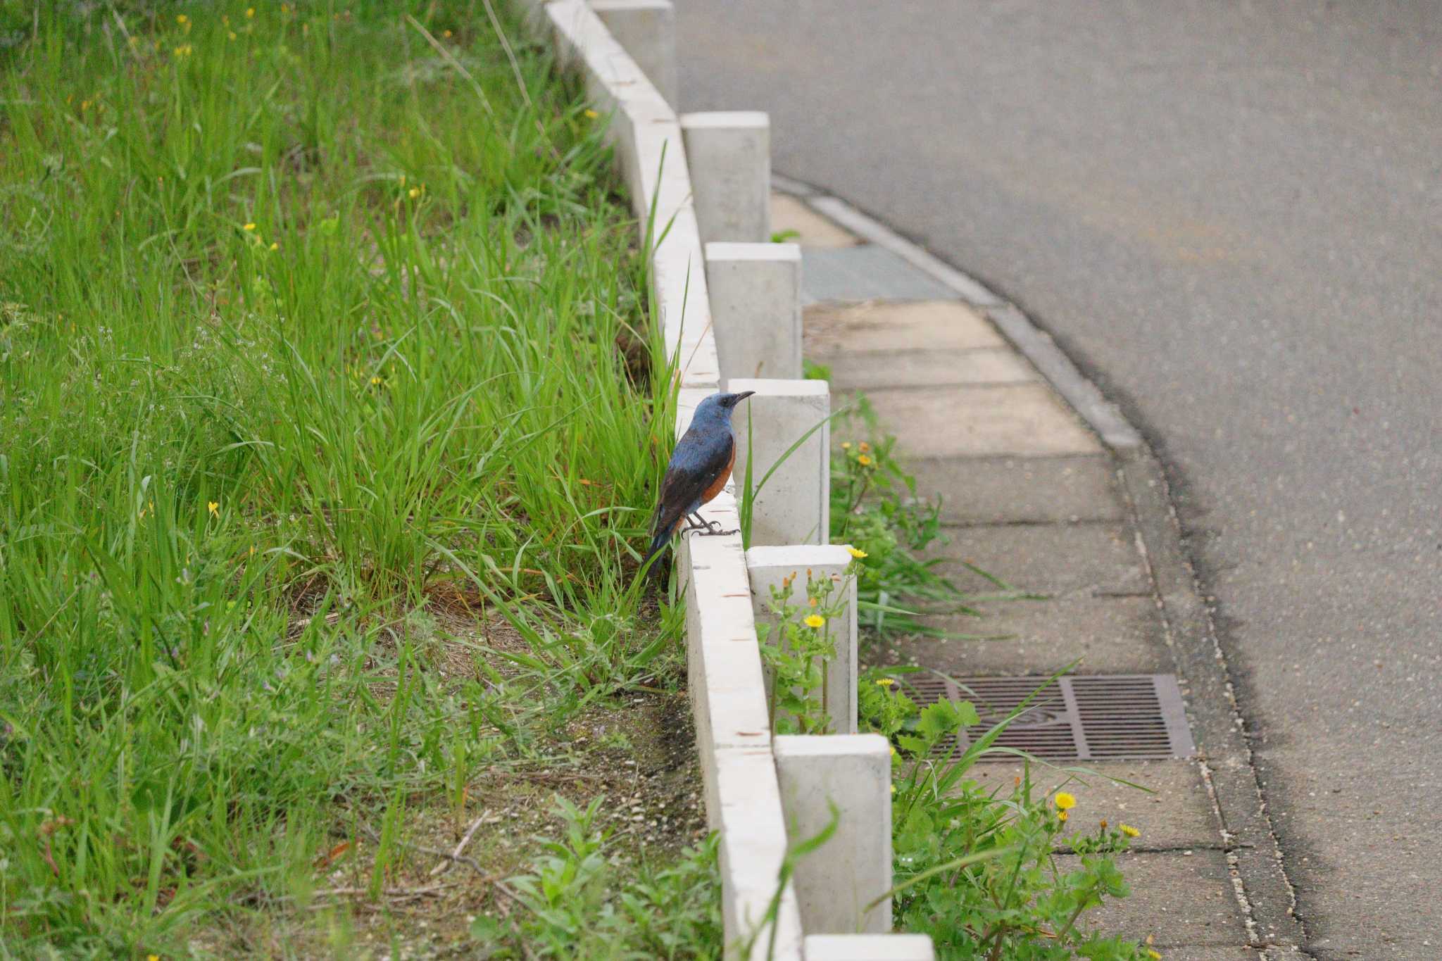
[[[1001,612],[1019,638],[1001,650],[871,657],[975,676],[1045,674],[1071,657],[1080,673],[1175,673],[1197,756],[1097,765],[1151,779],[1159,801],[1141,804],[1154,824],[1123,860],[1135,893],[1102,924],[1169,958],[1306,957],[1229,667],[1141,434],[1014,304],[845,200],[773,184],[773,229],[803,249],[808,357],[832,366],[838,393],[867,392],[919,491],[950,501],[945,520],[970,552],[957,559],[1053,598],[1035,615]]]

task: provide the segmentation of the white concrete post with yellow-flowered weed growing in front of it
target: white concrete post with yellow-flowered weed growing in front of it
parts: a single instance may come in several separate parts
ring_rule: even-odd
[[[826,687],[822,707],[831,718],[833,735],[857,733],[857,579],[846,576],[851,552],[841,545],[795,545],[786,547],[751,547],[746,552],[746,568],[751,575],[751,609],[756,622],[774,624],[771,588],[792,578],[792,602],[806,604],[806,578],[826,578],[842,591],[845,614],[828,621],[825,630],[836,645],[836,657],[826,666]],[[767,679],[770,690],[770,679]]]

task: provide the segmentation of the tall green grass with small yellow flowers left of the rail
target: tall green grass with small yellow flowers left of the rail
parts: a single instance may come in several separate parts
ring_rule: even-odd
[[[658,683],[668,370],[505,10],[0,10],[0,942],[200,952]]]

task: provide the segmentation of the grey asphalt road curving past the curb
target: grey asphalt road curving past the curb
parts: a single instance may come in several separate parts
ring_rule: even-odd
[[[684,109],[1021,304],[1175,483],[1319,958],[1442,957],[1442,3],[678,0]]]

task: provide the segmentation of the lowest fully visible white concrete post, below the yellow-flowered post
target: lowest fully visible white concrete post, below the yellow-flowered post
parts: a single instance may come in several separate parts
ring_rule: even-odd
[[[792,844],[836,833],[796,864],[808,934],[891,931],[891,743],[881,735],[786,735],[771,742]],[[880,903],[867,909],[867,905]]]

